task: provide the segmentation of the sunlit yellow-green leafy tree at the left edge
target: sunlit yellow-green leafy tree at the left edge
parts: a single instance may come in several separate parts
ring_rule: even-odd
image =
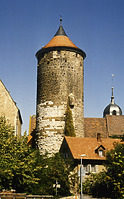
[[[13,127],[0,118],[0,189],[33,192],[39,182],[41,169],[38,151],[27,146],[27,137],[14,136]]]

